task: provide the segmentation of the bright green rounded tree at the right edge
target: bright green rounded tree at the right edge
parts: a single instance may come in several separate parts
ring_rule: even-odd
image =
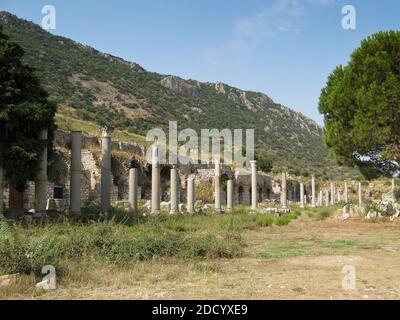
[[[400,168],[400,32],[363,40],[347,66],[322,89],[324,138],[339,164],[358,166],[366,178]]]

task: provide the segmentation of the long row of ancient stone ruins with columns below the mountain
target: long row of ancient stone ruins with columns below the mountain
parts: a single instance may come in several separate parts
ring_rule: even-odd
[[[43,133],[42,138],[46,137]],[[149,164],[144,146],[112,141],[106,130],[101,137],[58,130],[54,146],[49,166],[47,156],[43,156],[37,179],[27,183],[23,194],[7,186],[0,190],[0,214],[8,208],[20,211],[35,208],[36,212],[69,211],[79,215],[82,206],[94,202],[100,204],[102,211],[109,211],[111,206],[120,203],[136,211],[139,199],[147,200],[152,213],[158,212],[161,204],[168,206],[171,213],[189,211],[195,210],[194,202],[199,198],[195,193],[200,185],[214,189],[210,199],[202,202],[203,205],[207,200],[214,202],[215,211],[221,211],[225,205],[227,210],[232,210],[237,204],[251,205],[252,210],[256,210],[259,204],[265,207],[273,203],[280,204],[279,210],[285,213],[290,203],[300,203],[301,207],[307,202],[312,207],[347,203],[350,190],[358,189],[359,205],[365,196],[361,184],[354,182],[351,185],[346,182],[342,189],[335,183],[320,183],[317,193],[314,177],[308,183],[300,183],[288,178],[286,173],[271,176],[258,172],[255,161],[250,168],[236,169],[219,163],[179,164],[177,167],[157,161]],[[0,180],[2,174],[0,168]],[[221,181],[226,184],[220,185]]]

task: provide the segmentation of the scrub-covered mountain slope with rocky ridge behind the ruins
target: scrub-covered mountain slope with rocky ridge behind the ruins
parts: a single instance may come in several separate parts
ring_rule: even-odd
[[[0,12],[0,24],[26,52],[27,64],[58,104],[57,124],[87,133],[112,125],[121,139],[142,139],[147,130],[255,129],[256,148],[278,171],[338,176],[354,173],[329,158],[321,128],[311,119],[259,92],[224,83],[201,83],[149,72],[140,65],[56,36],[40,26]]]

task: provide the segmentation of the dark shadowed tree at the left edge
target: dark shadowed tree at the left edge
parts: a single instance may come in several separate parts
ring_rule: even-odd
[[[0,165],[6,181],[21,192],[37,172],[44,147],[38,134],[44,128],[51,144],[56,110],[23,55],[0,26]]]

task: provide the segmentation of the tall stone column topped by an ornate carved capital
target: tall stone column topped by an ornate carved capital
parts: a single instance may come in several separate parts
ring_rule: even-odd
[[[106,130],[101,136],[100,207],[102,212],[111,210],[111,137]]]

